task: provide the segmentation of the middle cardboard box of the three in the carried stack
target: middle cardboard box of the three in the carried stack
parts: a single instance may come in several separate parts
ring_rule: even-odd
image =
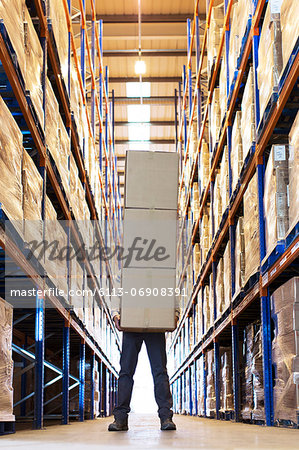
[[[175,268],[177,211],[125,209],[123,267]]]

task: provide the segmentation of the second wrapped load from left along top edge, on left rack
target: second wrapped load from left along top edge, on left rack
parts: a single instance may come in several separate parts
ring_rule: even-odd
[[[59,56],[62,78],[68,84],[68,25],[61,0],[49,0],[49,19],[51,20],[56,49]]]

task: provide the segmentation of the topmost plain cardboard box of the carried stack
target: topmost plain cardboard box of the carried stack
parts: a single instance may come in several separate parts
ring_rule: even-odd
[[[125,208],[177,209],[177,153],[126,153]]]

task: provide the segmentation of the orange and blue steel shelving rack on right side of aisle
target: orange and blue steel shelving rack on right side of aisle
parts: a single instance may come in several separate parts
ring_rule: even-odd
[[[179,200],[182,192],[186,196],[185,206],[182,213],[182,227],[178,241],[178,254],[181,245],[184,245],[184,226],[187,222],[187,211],[191,199],[191,187],[196,178],[199,168],[199,153],[205,128],[207,127],[209,119],[210,104],[212,101],[213,90],[216,86],[217,77],[220,70],[221,55],[225,51],[224,57],[227,61],[228,68],[228,51],[229,51],[229,36],[230,36],[230,13],[233,5],[233,0],[225,0],[225,17],[223,23],[223,31],[221,34],[218,54],[214,61],[212,73],[209,80],[209,92],[206,104],[201,112],[201,71],[203,67],[203,58],[207,45],[207,35],[210,26],[211,13],[213,7],[213,0],[207,1],[207,19],[205,32],[201,43],[199,40],[199,20],[198,20],[198,0],[195,1],[194,20],[191,29],[191,22],[187,22],[188,30],[188,61],[187,61],[187,75],[186,68],[183,69],[183,93],[181,88],[178,89],[178,105],[179,105],[179,124],[177,129],[177,150],[180,154],[181,174],[180,174],[180,188]],[[182,402],[183,386],[186,386],[186,377],[189,377],[189,408],[187,413],[197,414],[197,404],[192,405],[191,380],[194,380],[195,398],[197,398],[198,382],[197,379],[197,364],[198,358],[203,355],[204,358],[204,376],[203,376],[203,390],[204,390],[204,416],[206,416],[206,400],[207,400],[207,385],[206,385],[206,351],[208,348],[214,349],[215,359],[215,397],[216,397],[216,418],[220,419],[223,415],[220,414],[220,385],[219,385],[219,342],[230,345],[232,349],[233,361],[233,391],[234,391],[234,411],[232,417],[235,421],[240,420],[240,379],[239,379],[239,326],[246,321],[253,320],[259,315],[262,324],[262,343],[263,343],[263,377],[264,377],[264,399],[265,399],[265,423],[268,426],[274,424],[273,412],[273,385],[272,385],[272,367],[271,367],[271,316],[270,316],[270,292],[276,289],[279,285],[294,275],[296,264],[298,264],[299,256],[299,236],[298,224],[291,230],[281,246],[270,254],[266,255],[265,251],[265,225],[263,218],[263,177],[265,171],[265,150],[267,145],[271,142],[271,137],[278,127],[279,121],[282,118],[284,111],[288,107],[290,112],[290,102],[292,98],[298,98],[298,76],[299,76],[299,52],[298,45],[295,46],[290,57],[286,70],[284,71],[279,86],[279,92],[275,96],[274,101],[268,105],[268,108],[261,123],[262,127],[258,130],[257,142],[252,143],[252,149],[248,159],[245,161],[241,171],[240,179],[237,188],[232,192],[232,175],[230,164],[231,151],[231,133],[232,133],[232,118],[236,108],[237,101],[241,95],[243,87],[243,77],[249,64],[249,60],[253,64],[255,77],[255,115],[257,125],[260,122],[259,112],[259,92],[257,88],[257,66],[258,66],[258,45],[259,35],[262,25],[263,12],[266,6],[265,0],[253,0],[253,15],[249,17],[247,30],[242,42],[242,49],[238,59],[238,67],[235,70],[234,78],[231,86],[229,85],[229,75],[227,73],[227,92],[229,93],[227,101],[227,109],[220,131],[220,137],[216,148],[210,149],[211,155],[211,169],[209,174],[208,184],[200,198],[199,218],[192,229],[192,236],[190,242],[187,242],[187,250],[182,272],[179,276],[179,284],[182,285],[186,277],[188,266],[188,259],[192,252],[192,247],[197,240],[199,230],[199,222],[203,215],[204,206],[208,201],[213,202],[213,188],[215,170],[220,162],[225,143],[228,145],[229,153],[229,194],[230,202],[228,209],[224,212],[219,229],[214,230],[213,240],[210,251],[208,252],[206,261],[195,280],[192,295],[188,299],[187,305],[182,313],[177,330],[172,334],[168,352],[173,355],[175,347],[184,345],[183,333],[190,331],[190,316],[193,316],[195,324],[196,302],[203,302],[203,286],[207,283],[207,278],[210,273],[213,273],[214,279],[214,309],[216,311],[216,293],[215,293],[215,274],[216,274],[216,260],[217,256],[223,251],[223,245],[228,241],[231,242],[231,288],[232,288],[232,303],[228,312],[214,321],[212,329],[203,330],[203,337],[199,342],[195,340],[189,354],[184,355],[179,362],[178,367],[175,368],[171,375],[170,382],[172,393],[174,395],[175,410],[179,410],[179,405]],[[196,49],[196,84],[194,91],[192,90],[192,70],[191,70],[191,55],[192,47],[195,42]],[[187,110],[189,108],[189,117],[187,118]],[[296,110],[295,110],[296,112]],[[197,115],[197,151],[195,160],[191,167],[191,174],[187,182],[184,181],[184,172],[186,170],[186,162],[188,158],[192,124]],[[188,124],[189,122],[189,124]],[[291,123],[287,125],[289,128]],[[260,232],[260,270],[254,277],[249,280],[249,283],[244,287],[241,293],[234,298],[235,291],[235,267],[234,267],[234,242],[235,242],[235,218],[238,215],[239,207],[242,203],[243,195],[246,191],[248,183],[252,176],[257,172],[258,176],[258,208],[259,208],[259,232]],[[199,177],[198,182],[200,183]],[[212,205],[213,206],[213,205]],[[212,223],[213,223],[213,208],[211,206]],[[214,223],[212,225],[214,228]],[[260,313],[259,313],[260,310]],[[214,318],[216,313],[214,312]],[[203,317],[202,317],[203,319]],[[203,320],[202,320],[203,321]],[[186,331],[188,330],[188,331]],[[208,331],[208,332],[207,332]],[[195,374],[195,375],[194,375]],[[196,402],[197,403],[197,402]],[[225,417],[227,418],[227,417]],[[299,424],[299,418],[298,418]]]

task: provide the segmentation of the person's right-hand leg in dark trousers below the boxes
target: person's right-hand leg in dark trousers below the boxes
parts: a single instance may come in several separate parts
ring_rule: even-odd
[[[160,419],[171,419],[172,395],[166,368],[165,333],[145,333],[144,342],[149,357],[155,386],[155,399]]]

